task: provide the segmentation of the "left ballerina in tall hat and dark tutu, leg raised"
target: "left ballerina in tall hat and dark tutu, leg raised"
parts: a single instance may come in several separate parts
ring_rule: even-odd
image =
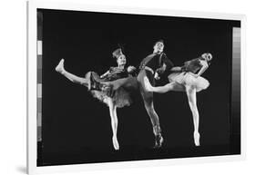
[[[129,88],[136,89],[137,79],[131,74],[135,72],[134,66],[126,67],[126,56],[121,49],[113,52],[113,57],[117,58],[117,67],[110,67],[107,73],[99,76],[97,73],[88,72],[85,77],[79,77],[75,74],[68,73],[64,68],[64,59],[56,66],[56,72],[63,74],[73,83],[85,85],[89,92],[92,93],[99,101],[108,105],[111,117],[111,127],[113,131],[112,142],[115,150],[119,150],[117,132],[118,132],[118,116],[117,108],[128,106],[131,103],[129,96]],[[120,80],[120,81],[118,81]],[[118,81],[118,89],[109,88],[108,82]],[[117,86],[117,85],[116,85]],[[111,90],[111,92],[110,92]],[[111,94],[110,94],[111,93]]]

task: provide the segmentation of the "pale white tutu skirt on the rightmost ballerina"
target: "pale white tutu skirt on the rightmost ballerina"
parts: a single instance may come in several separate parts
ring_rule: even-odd
[[[197,92],[207,89],[210,85],[205,78],[201,76],[196,78],[191,73],[171,73],[168,78],[170,83],[176,82],[184,86],[191,86],[196,88]]]

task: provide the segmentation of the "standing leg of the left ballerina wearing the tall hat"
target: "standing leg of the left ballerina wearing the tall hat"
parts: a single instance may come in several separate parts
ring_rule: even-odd
[[[113,137],[112,137],[113,146],[115,150],[119,150],[117,106],[114,104],[114,102],[110,98],[108,98],[108,107],[109,107],[109,113],[111,118],[111,127],[113,131]]]

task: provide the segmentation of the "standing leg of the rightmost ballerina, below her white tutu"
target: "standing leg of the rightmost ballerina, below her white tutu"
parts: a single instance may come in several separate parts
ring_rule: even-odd
[[[200,115],[197,107],[197,91],[191,86],[186,86],[186,92],[189,100],[189,107],[193,116],[194,123],[194,142],[196,146],[200,146]]]

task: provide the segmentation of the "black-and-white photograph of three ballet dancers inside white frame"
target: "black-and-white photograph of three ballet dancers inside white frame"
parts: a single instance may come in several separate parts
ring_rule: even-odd
[[[38,167],[241,154],[241,21],[36,13]]]

